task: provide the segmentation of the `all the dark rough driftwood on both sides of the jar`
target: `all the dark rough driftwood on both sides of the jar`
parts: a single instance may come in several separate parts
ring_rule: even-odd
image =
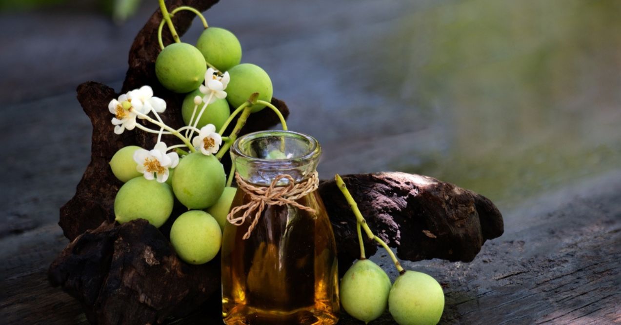
[[[181,5],[204,11],[217,1],[168,1],[169,9]],[[129,70],[122,93],[150,85],[166,100],[162,114],[166,124],[182,125],[182,95],[163,89],[156,81],[154,62],[159,47],[156,11],[137,35],[129,55]],[[193,16],[175,16],[179,34]],[[164,35],[165,42],[171,37]],[[188,265],[176,257],[168,242],[173,216],[160,229],[138,220],[114,224],[114,197],[122,183],[116,180],[108,162],[125,145],[152,147],[156,137],[138,131],[117,136],[112,132],[107,103],[118,94],[99,83],[78,87],[78,100],[93,124],[91,162],[79,182],[76,195],[61,208],[60,226],[72,240],[52,263],[50,282],[60,285],[81,301],[92,323],[161,323],[170,316],[185,316],[201,308],[219,288],[218,259],[206,265]],[[288,108],[278,99],[272,103],[286,117]],[[263,110],[253,114],[242,133],[267,129],[278,122]],[[168,142],[171,142],[168,138]],[[229,165],[228,160],[223,161]],[[448,183],[419,175],[379,173],[345,176],[354,198],[378,236],[397,248],[405,260],[431,259],[470,261],[486,239],[500,236],[502,216],[483,196]],[[355,219],[332,181],[320,186],[320,193],[332,219],[337,238],[340,272],[358,256]],[[368,244],[369,254],[376,247]],[[217,304],[216,304],[217,305]],[[217,314],[217,313],[215,313]]]

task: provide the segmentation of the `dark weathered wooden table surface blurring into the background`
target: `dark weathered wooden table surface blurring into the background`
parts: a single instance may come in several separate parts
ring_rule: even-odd
[[[442,323],[607,324],[621,322],[621,12],[586,2],[533,14],[534,0],[223,1],[207,19],[270,73],[290,128],[317,135],[323,178],[403,170],[496,201],[505,234],[473,262],[405,262],[444,286]],[[0,16],[9,49],[0,53],[0,323],[86,322],[46,278],[67,244],[58,208],[89,157],[91,129],[72,89],[85,80],[119,89],[153,9],[122,27],[84,10]],[[562,77],[568,69],[576,84]],[[386,256],[374,259],[394,279]]]

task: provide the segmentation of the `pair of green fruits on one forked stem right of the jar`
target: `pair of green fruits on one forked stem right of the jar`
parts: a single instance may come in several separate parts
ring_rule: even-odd
[[[365,323],[381,316],[388,307],[399,325],[437,324],[444,310],[444,293],[440,283],[425,273],[404,270],[388,245],[374,236],[366,225],[340,176],[336,175],[335,180],[356,215],[360,242],[360,260],[353,263],[341,279],[339,291],[343,309]],[[366,259],[361,227],[369,239],[376,240],[386,249],[399,270],[399,277],[393,284],[381,267]]]

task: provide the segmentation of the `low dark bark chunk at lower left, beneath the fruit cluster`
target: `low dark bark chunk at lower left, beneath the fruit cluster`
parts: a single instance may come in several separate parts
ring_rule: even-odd
[[[155,324],[200,308],[220,288],[219,260],[181,262],[168,239],[138,219],[78,236],[48,275],[81,301],[91,323]]]

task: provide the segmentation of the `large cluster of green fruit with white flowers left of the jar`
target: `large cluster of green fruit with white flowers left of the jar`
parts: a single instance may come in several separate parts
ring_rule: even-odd
[[[163,1],[160,1],[160,5],[163,12],[161,25],[169,23],[168,26],[176,42],[163,47],[160,28],[162,50],[155,62],[155,73],[165,88],[175,93],[188,93],[184,98],[181,112],[186,127],[179,130],[171,129],[163,124],[156,109],[150,110],[156,119],[147,116],[149,110],[142,114],[145,110],[141,111],[140,107],[136,106],[138,99],[132,101],[132,95],[137,98],[140,94],[138,89],[134,93],[128,93],[123,99],[119,98],[116,104],[111,104],[111,112],[116,114],[117,119],[113,124],[135,119],[135,116],[147,119],[156,124],[160,130],[148,129],[141,124],[137,124],[136,127],[158,133],[158,145],[161,144],[160,152],[155,150],[158,148],[156,145],[155,149],[148,152],[151,158],[146,160],[137,158],[138,151],[147,155],[147,150],[137,146],[124,147],[114,154],[110,162],[112,173],[124,182],[114,201],[114,213],[116,221],[120,223],[140,218],[147,219],[155,227],[160,227],[171,216],[175,201],[178,201],[189,211],[178,216],[173,223],[170,232],[171,244],[185,262],[202,264],[212,260],[220,250],[222,231],[236,193],[236,188],[230,186],[231,178],[227,183],[224,167],[219,159],[233,141],[233,134],[236,136],[236,132],[245,123],[245,118],[238,119],[231,137],[222,138],[220,135],[241,109],[246,114],[260,111],[266,106],[275,109],[269,103],[273,90],[270,76],[263,69],[250,63],[240,64],[242,48],[237,37],[229,30],[207,27],[204,17],[196,9],[178,7],[171,14],[179,10],[196,12],[206,27],[196,47],[182,43],[171,24],[171,14],[166,11]],[[150,88],[148,89],[150,91]],[[140,96],[143,96],[143,101],[147,103],[152,92]],[[230,106],[237,108],[233,114]],[[134,128],[133,122],[128,125],[130,125],[127,127],[128,130]],[[200,129],[202,134],[205,127],[220,130],[215,136],[220,142],[225,139],[227,145],[220,148],[220,142],[214,144],[215,138],[202,138],[196,141],[198,138],[196,137],[191,141],[194,132]],[[283,127],[286,125],[283,124]],[[184,129],[185,135],[181,132]],[[160,142],[164,134],[175,135],[183,140],[184,145],[166,147]],[[213,151],[201,150],[203,140],[211,141],[210,150]],[[195,143],[199,144],[198,147]],[[207,146],[207,142],[205,145]],[[183,147],[190,149],[190,152],[181,150]],[[177,153],[166,153],[172,149],[182,155],[180,160],[176,158]],[[217,152],[218,149],[221,152]],[[173,155],[175,163],[168,163],[169,160],[163,157],[165,155]],[[167,163],[161,163],[162,161]],[[157,180],[154,179],[154,175],[157,176]]]

